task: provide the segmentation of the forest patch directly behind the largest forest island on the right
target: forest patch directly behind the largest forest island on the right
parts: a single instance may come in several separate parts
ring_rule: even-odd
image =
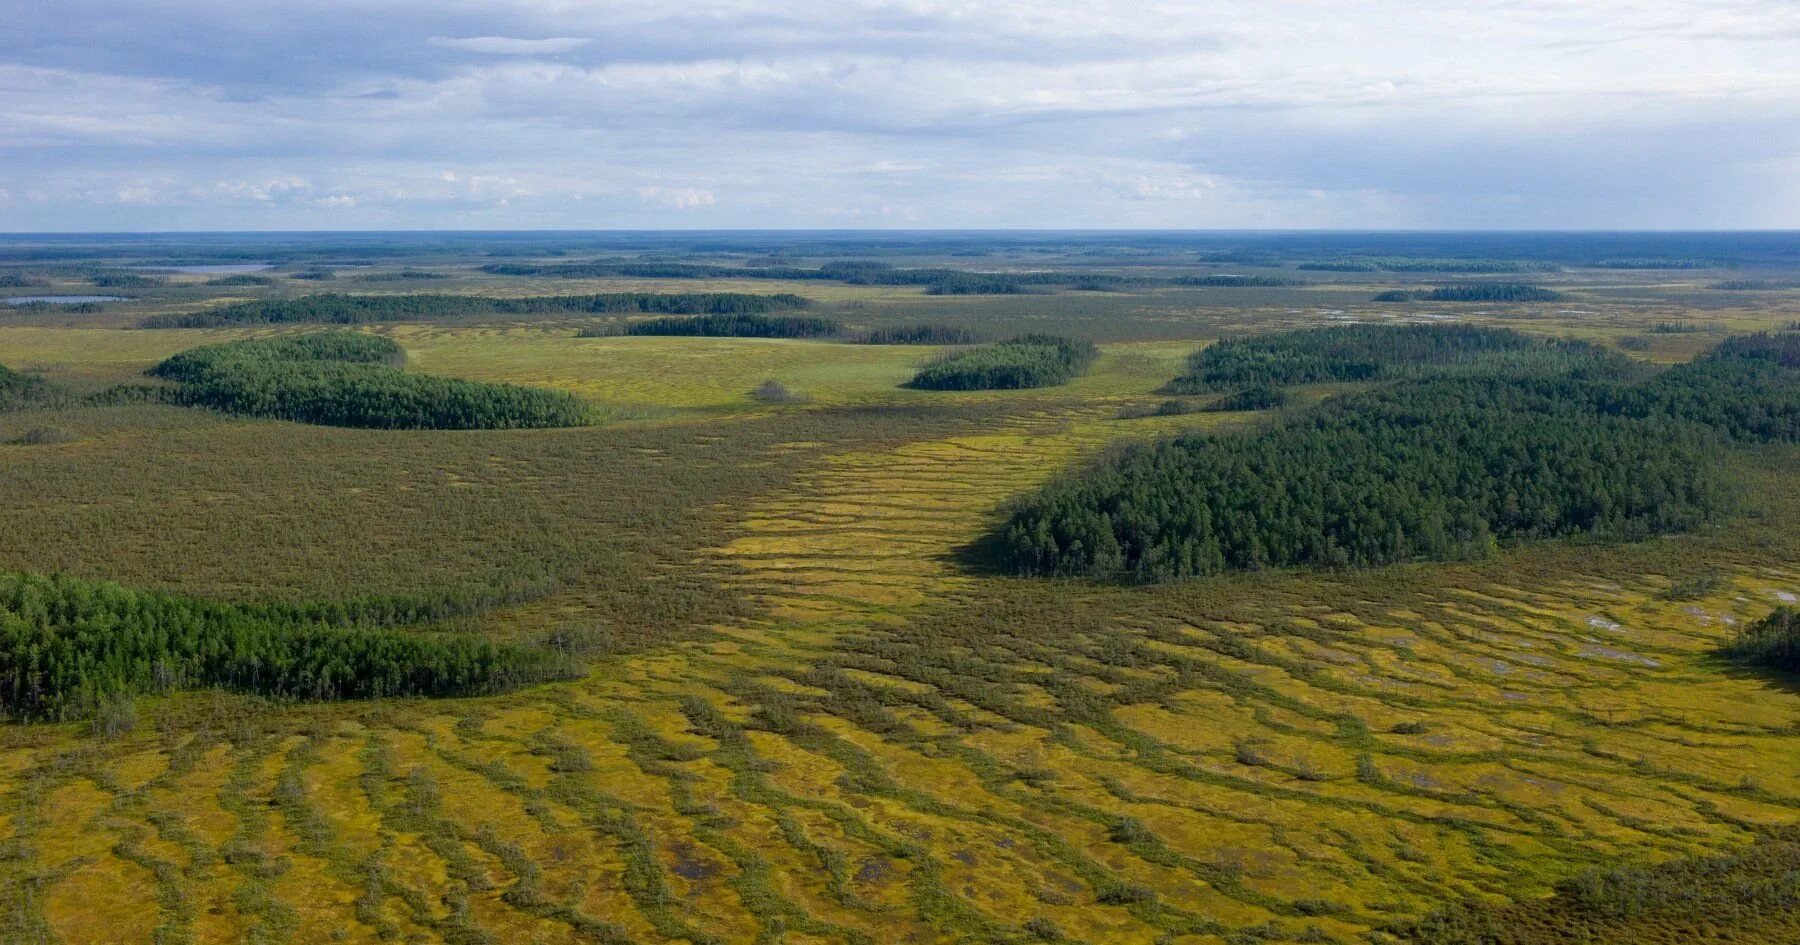
[[[1579,342],[1537,340],[1503,328],[1352,324],[1224,338],[1195,351],[1168,392],[1204,394],[1244,385],[1417,378],[1451,369],[1541,362],[1568,369],[1606,355]]]

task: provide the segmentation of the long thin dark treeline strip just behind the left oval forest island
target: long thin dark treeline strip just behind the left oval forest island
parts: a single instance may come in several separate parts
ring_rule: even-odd
[[[338,295],[261,299],[207,311],[153,315],[146,328],[220,328],[236,324],[371,324],[428,319],[475,319],[484,315],[751,315],[806,308],[792,293],[745,292],[612,292],[601,295]]]

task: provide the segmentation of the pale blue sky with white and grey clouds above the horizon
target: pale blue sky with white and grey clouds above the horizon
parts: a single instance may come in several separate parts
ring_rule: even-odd
[[[5,5],[0,232],[1800,227],[1796,0]]]

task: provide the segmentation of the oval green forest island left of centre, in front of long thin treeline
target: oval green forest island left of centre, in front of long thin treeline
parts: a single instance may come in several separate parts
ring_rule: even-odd
[[[562,391],[409,374],[403,358],[392,340],[324,331],[194,347],[149,373],[178,382],[178,403],[326,427],[511,430],[592,419]]]

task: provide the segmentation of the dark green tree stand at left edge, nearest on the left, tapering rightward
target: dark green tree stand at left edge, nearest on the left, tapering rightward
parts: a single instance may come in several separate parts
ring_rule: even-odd
[[[65,576],[0,574],[0,715],[77,718],[104,700],[223,688],[329,700],[499,693],[569,675],[536,648],[338,626]]]

